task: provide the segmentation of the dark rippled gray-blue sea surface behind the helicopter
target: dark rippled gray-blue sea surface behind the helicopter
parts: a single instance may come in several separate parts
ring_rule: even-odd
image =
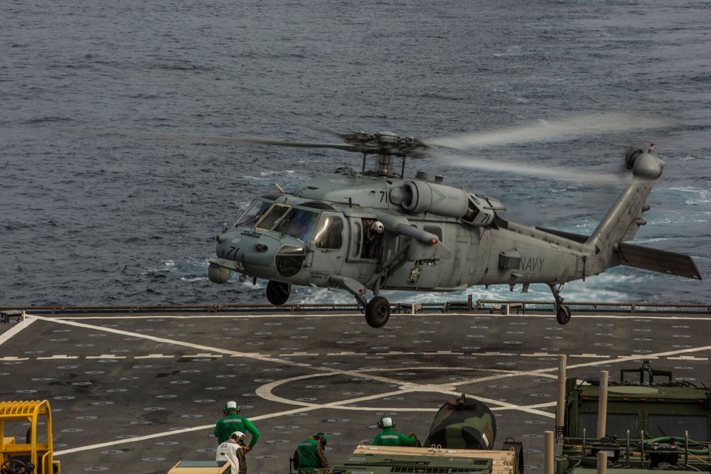
[[[633,242],[692,255],[705,280],[618,267],[562,294],[711,300],[708,1],[5,0],[0,50],[0,306],[265,301],[265,281],[208,281],[222,222],[274,183],[359,168],[360,156],[180,137],[334,138],[282,113],[421,139],[594,112],[670,119],[476,156],[606,173],[652,141],[667,166]],[[588,234],[621,190],[433,159],[407,174],[419,169],[500,199],[508,220]],[[552,299],[545,285],[523,296]],[[354,300],[294,289],[290,301]]]

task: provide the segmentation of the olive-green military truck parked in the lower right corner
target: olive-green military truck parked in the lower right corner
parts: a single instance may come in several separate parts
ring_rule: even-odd
[[[621,370],[617,382],[608,383],[606,372],[585,382],[565,379],[564,412],[557,433],[546,433],[546,472],[711,472],[711,389],[675,380],[648,361]]]

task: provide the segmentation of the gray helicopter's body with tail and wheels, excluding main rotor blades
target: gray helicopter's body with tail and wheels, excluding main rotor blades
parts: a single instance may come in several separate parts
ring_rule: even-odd
[[[498,200],[443,185],[441,179],[427,173],[418,173],[418,178],[391,175],[387,172],[390,156],[380,153],[377,172],[341,168],[311,178],[293,193],[271,198],[274,205],[255,221],[255,227],[237,226],[218,236],[218,259],[210,261],[210,279],[224,283],[229,274],[215,270],[223,266],[281,282],[286,298],[290,291],[286,285],[345,289],[366,306],[366,320],[374,327],[385,324],[390,308],[382,297],[370,305],[364,289],[378,296],[387,289],[454,291],[474,285],[542,283],[553,291],[559,321],[565,324],[570,309],[562,304],[560,289],[554,285],[584,279],[618,264],[700,279],[693,260],[685,256],[668,253],[668,258],[660,259],[658,252],[651,249],[645,253],[643,247],[636,247],[626,253],[625,260],[619,258],[620,244],[634,237],[643,224],[641,215],[649,208],[645,200],[654,180],[661,176],[664,162],[654,156],[653,146],[626,156],[632,166],[631,183],[592,235],[584,239],[508,222],[498,215],[506,210]],[[255,209],[254,205],[250,209]],[[292,225],[289,216],[316,213],[316,227],[304,237],[285,235]],[[323,226],[329,219],[341,222],[338,215],[345,218],[338,227],[340,243],[319,248],[311,234],[327,235]],[[376,225],[380,226],[377,232],[373,230]],[[277,227],[284,231],[276,232]],[[242,247],[237,249],[230,242]],[[284,260],[282,255],[280,264],[277,259],[282,249],[294,254],[296,260]],[[279,269],[287,261],[293,269],[288,274]],[[683,271],[678,262],[684,262]],[[286,301],[267,296],[272,303]]]

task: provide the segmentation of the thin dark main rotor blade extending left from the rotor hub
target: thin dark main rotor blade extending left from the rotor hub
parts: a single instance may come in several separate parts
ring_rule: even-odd
[[[186,135],[186,134],[159,134],[147,131],[106,131],[92,129],[64,129],[75,134],[90,136],[102,139],[139,139],[139,140],[157,140],[157,141],[180,141],[189,144],[252,144],[252,145],[272,145],[272,146],[291,146],[294,148],[331,148],[346,151],[360,151],[358,146],[353,144],[328,144],[328,143],[311,143],[306,141],[279,141],[279,140],[262,140],[262,139],[238,139],[231,136],[203,136],[203,135]]]

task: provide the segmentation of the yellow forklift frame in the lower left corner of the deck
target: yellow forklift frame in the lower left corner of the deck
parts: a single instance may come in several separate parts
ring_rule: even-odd
[[[6,436],[23,431],[25,438],[19,441],[24,443],[16,436]],[[60,474],[60,463],[53,453],[52,411],[47,400],[0,402],[0,474]]]

